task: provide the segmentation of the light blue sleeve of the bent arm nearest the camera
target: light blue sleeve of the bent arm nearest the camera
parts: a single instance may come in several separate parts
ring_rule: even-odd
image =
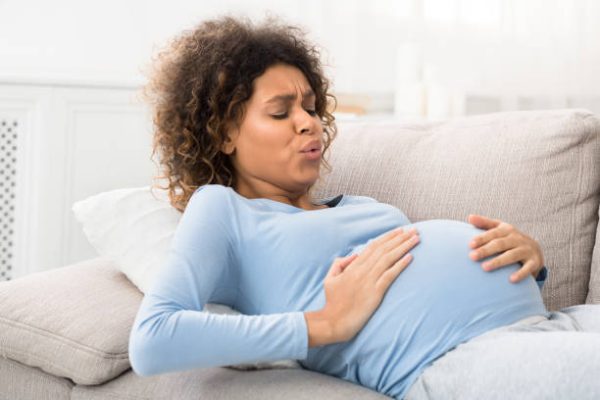
[[[196,191],[177,226],[165,265],[145,294],[129,338],[141,376],[259,361],[305,359],[303,312],[224,315],[207,302],[233,307],[237,298],[235,218],[226,193]]]

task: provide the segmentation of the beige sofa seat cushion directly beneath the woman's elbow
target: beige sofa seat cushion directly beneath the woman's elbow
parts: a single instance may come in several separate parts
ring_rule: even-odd
[[[354,383],[304,369],[198,368],[140,377],[128,371],[101,386],[76,386],[71,400],[390,399]]]

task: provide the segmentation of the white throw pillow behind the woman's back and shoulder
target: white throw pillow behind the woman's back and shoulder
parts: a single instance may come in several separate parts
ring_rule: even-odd
[[[150,186],[116,189],[77,201],[75,218],[98,254],[115,261],[119,270],[142,292],[149,289],[167,252],[181,213],[169,203],[166,190]],[[223,304],[206,304],[207,312],[240,314]],[[238,364],[250,370],[301,368],[295,360]]]

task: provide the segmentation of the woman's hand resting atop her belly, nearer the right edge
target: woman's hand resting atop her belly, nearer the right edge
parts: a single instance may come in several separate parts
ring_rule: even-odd
[[[469,254],[472,260],[477,261],[503,252],[481,264],[484,271],[520,262],[523,266],[510,276],[510,281],[517,283],[528,274],[535,278],[544,267],[544,256],[539,243],[511,224],[476,214],[470,214],[467,220],[477,228],[487,229],[487,232],[475,236],[469,243],[469,247],[474,249]]]

